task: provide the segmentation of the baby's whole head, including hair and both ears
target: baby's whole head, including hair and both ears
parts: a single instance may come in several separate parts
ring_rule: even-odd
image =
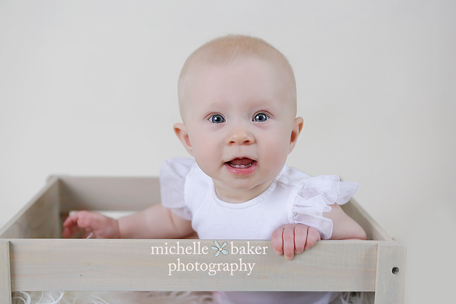
[[[174,130],[225,199],[223,189],[239,190],[239,201],[264,191],[303,124],[287,59],[250,36],[221,37],[193,52],[180,73],[178,98],[183,124]]]

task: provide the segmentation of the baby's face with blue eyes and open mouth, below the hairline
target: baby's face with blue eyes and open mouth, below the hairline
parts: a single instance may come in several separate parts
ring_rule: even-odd
[[[217,194],[260,194],[283,168],[302,127],[283,77],[260,59],[199,67],[192,76],[182,111],[187,150]]]

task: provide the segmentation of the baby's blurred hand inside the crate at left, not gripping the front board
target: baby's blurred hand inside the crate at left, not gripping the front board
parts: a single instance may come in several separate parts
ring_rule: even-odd
[[[91,233],[97,239],[118,239],[119,224],[117,220],[99,213],[79,211],[68,216],[63,222],[64,238],[87,238]]]

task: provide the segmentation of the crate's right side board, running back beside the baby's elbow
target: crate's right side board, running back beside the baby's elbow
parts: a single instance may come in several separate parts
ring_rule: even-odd
[[[392,241],[388,233],[356,202],[351,199],[341,208],[356,222],[358,222],[367,234],[369,240]]]

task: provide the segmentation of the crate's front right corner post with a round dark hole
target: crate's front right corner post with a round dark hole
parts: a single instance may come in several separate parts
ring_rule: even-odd
[[[405,287],[405,245],[399,242],[378,243],[377,255],[375,304],[402,304]]]

